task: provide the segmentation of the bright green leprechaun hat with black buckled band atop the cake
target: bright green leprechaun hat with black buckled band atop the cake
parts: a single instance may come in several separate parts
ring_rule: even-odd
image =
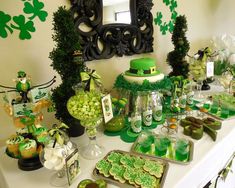
[[[133,59],[130,62],[130,69],[125,72],[125,75],[128,76],[155,76],[160,74],[160,71],[157,70],[155,59],[153,58],[139,58]]]

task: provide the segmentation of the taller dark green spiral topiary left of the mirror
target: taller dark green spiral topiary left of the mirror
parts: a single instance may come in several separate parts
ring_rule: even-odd
[[[82,59],[78,58],[81,54],[77,53],[80,50],[79,35],[70,10],[59,7],[53,16],[53,40],[56,42],[56,47],[50,52],[49,57],[52,60],[51,66],[62,80],[62,83],[52,92],[55,116],[70,127],[70,136],[78,136],[83,134],[83,127],[69,114],[66,105],[68,99],[75,94],[73,86],[81,82],[80,72],[85,68]],[[79,128],[77,133],[74,132],[75,128]]]

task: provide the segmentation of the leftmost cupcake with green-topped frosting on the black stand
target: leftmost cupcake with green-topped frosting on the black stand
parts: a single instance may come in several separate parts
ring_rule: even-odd
[[[13,135],[11,136],[7,141],[7,150],[9,154],[11,154],[13,157],[19,156],[19,144],[23,142],[24,137],[20,135]]]

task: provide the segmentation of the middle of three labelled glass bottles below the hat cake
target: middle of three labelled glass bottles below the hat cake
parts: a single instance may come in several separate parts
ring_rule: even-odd
[[[152,111],[152,104],[151,104],[151,99],[150,95],[146,95],[146,102],[144,104],[144,109],[143,109],[143,124],[147,127],[152,125],[153,121],[153,111]]]

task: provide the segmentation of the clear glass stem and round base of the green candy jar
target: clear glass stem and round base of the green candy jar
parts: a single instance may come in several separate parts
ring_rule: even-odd
[[[103,119],[101,117],[81,121],[81,125],[85,127],[86,134],[89,138],[88,144],[81,149],[81,155],[85,159],[98,159],[104,154],[104,147],[99,145],[96,140],[97,126],[100,125],[102,121]]]

